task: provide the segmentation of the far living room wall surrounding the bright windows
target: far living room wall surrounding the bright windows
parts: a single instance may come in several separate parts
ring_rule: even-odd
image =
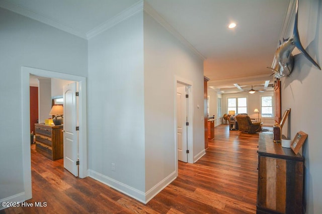
[[[248,99],[248,108],[247,112],[248,115],[253,119],[258,118],[258,114],[254,112],[254,110],[257,108],[261,111],[261,96],[274,96],[274,92],[256,92],[254,94],[250,94],[248,92],[243,93],[236,93],[236,94],[223,94],[222,95],[222,113],[227,114],[227,98],[229,97],[247,97]],[[273,98],[274,101],[274,98]],[[274,118],[268,119],[261,117],[260,113],[260,120],[263,122],[264,125],[273,126],[274,125]]]

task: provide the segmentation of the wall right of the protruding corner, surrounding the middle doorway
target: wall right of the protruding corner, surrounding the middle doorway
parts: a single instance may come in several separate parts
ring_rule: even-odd
[[[176,77],[193,85],[193,148],[190,150],[195,158],[204,152],[203,61],[144,13],[146,191],[176,170]]]

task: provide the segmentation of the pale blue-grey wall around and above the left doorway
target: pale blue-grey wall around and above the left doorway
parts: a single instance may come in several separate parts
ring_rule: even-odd
[[[0,201],[24,195],[21,67],[87,76],[87,41],[0,8]],[[26,129],[25,129],[26,130]],[[28,128],[27,128],[28,130]]]

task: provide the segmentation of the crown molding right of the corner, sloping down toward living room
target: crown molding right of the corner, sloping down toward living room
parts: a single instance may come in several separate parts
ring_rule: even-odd
[[[162,25],[173,36],[180,40],[186,47],[188,47],[194,54],[196,54],[202,61],[206,58],[193,45],[191,45],[174,27],[172,27],[161,15],[159,15],[149,4],[144,2],[144,12],[150,15],[156,22]]]

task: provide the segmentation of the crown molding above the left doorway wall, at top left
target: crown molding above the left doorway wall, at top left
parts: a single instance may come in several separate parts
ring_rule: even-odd
[[[77,31],[69,26],[66,26],[57,20],[54,20],[54,19],[44,16],[42,14],[35,13],[27,8],[17,6],[17,5],[12,4],[8,1],[5,1],[5,0],[0,1],[0,7],[7,9],[9,11],[12,11],[14,13],[20,14],[22,16],[28,17],[30,19],[36,20],[38,22],[44,23],[46,25],[52,26],[52,27],[57,28],[59,30],[65,31],[67,33],[73,34],[77,37],[87,39],[86,35],[81,33],[80,31]]]

